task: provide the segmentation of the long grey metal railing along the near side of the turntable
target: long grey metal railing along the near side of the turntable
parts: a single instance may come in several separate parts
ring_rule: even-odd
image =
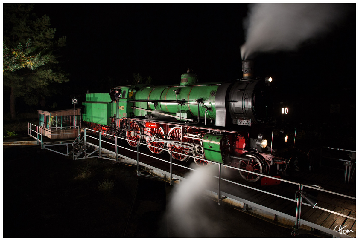
[[[86,128],[84,128],[85,130]],[[108,143],[110,145],[115,145],[115,155],[116,155],[116,159],[117,159],[117,156],[118,156],[118,147],[120,148],[123,148],[123,149],[126,149],[126,150],[129,150],[129,151],[132,151],[132,152],[136,152],[136,156],[137,156],[137,175],[142,175],[141,174],[141,171],[139,171],[139,154],[141,155],[145,155],[145,156],[150,156],[152,158],[155,158],[157,160],[160,160],[160,161],[163,161],[163,162],[167,162],[170,164],[170,182],[171,184],[173,184],[173,181],[172,178],[173,178],[173,173],[172,173],[172,166],[173,165],[176,165],[176,166],[180,166],[182,168],[185,168],[185,169],[188,169],[188,170],[191,170],[191,171],[197,171],[195,169],[192,169],[190,167],[186,167],[186,166],[183,166],[183,165],[180,165],[180,164],[177,164],[177,163],[173,163],[172,162],[172,153],[178,153],[178,154],[181,154],[183,156],[189,156],[189,157],[193,157],[193,156],[190,156],[190,155],[186,155],[184,153],[179,153],[179,152],[175,152],[175,151],[170,151],[168,149],[165,149],[165,148],[160,148],[160,147],[156,147],[160,150],[165,150],[165,151],[169,151],[170,152],[170,161],[167,161],[167,160],[164,160],[164,159],[161,159],[159,157],[154,157],[152,155],[148,155],[146,153],[143,153],[143,152],[140,152],[139,151],[139,143],[138,141],[133,141],[131,140],[131,142],[134,142],[134,143],[137,143],[137,148],[136,150],[131,150],[130,148],[126,148],[126,147],[123,147],[123,146],[119,146],[117,144],[118,140],[119,139],[122,139],[122,140],[126,140],[126,138],[122,138],[122,137],[118,137],[118,136],[113,136],[111,134],[106,134],[106,133],[102,133],[102,132],[98,132],[98,131],[94,131],[94,130],[91,130],[89,129],[89,131],[92,131],[92,132],[97,132],[98,133],[98,138],[97,137],[93,137],[93,136],[90,136],[90,135],[87,135],[86,132],[84,132],[84,140],[85,140],[85,143],[86,143],[86,138],[94,138],[95,140],[98,140],[99,141],[99,157],[101,158],[107,158],[107,157],[104,157],[106,156],[107,154],[102,154],[101,153],[101,142],[104,142],[104,143]],[[101,136],[104,136],[105,138],[106,137],[110,137],[110,138],[113,138],[115,140],[115,143],[112,143],[112,142],[109,142],[109,141],[106,141],[106,140],[101,140]],[[107,140],[109,140],[108,138],[106,138]],[[146,143],[140,143],[141,145],[145,145],[145,146],[150,146]],[[107,158],[109,159],[109,158]],[[310,225],[311,223],[309,223],[308,221],[305,221],[304,219],[301,219],[300,218],[300,213],[301,213],[301,207],[302,205],[307,205],[307,206],[311,206],[310,204],[307,204],[307,203],[303,203],[302,202],[302,195],[298,195],[298,197],[296,197],[296,199],[291,199],[291,198],[287,198],[287,197],[284,197],[284,196],[281,196],[281,195],[277,195],[277,194],[274,194],[274,193],[270,193],[270,192],[266,192],[264,190],[261,190],[261,189],[257,189],[257,188],[254,188],[254,187],[251,187],[251,186],[248,186],[248,185],[244,185],[244,184],[240,184],[240,183],[236,183],[234,181],[231,181],[231,180],[228,180],[228,179],[224,179],[221,177],[221,169],[222,169],[222,166],[224,167],[228,167],[228,168],[231,168],[231,169],[236,169],[236,170],[241,170],[241,171],[244,171],[244,172],[247,172],[247,173],[251,173],[251,174],[255,174],[255,175],[260,175],[260,176],[263,176],[263,177],[266,177],[266,178],[270,178],[270,179],[275,179],[275,180],[279,180],[279,181],[283,181],[283,182],[286,182],[286,183],[289,183],[289,184],[293,184],[293,185],[297,185],[298,186],[298,191],[299,193],[303,193],[304,192],[304,188],[307,188],[307,189],[314,189],[314,190],[317,190],[317,191],[320,191],[320,192],[326,192],[326,193],[331,193],[331,194],[335,194],[335,195],[338,195],[340,197],[346,197],[346,198],[350,198],[350,199],[354,199],[356,200],[355,197],[351,197],[351,196],[348,196],[348,195],[344,195],[344,194],[340,194],[340,193],[336,193],[336,192],[332,192],[332,191],[329,191],[329,190],[325,190],[325,189],[322,189],[322,188],[317,188],[315,186],[309,186],[309,185],[304,185],[304,184],[300,184],[300,183],[296,183],[296,182],[293,182],[293,181],[289,181],[289,180],[284,180],[284,179],[280,179],[280,178],[275,178],[275,177],[272,177],[272,176],[267,176],[267,175],[264,175],[264,174],[260,174],[260,173],[255,173],[255,172],[252,172],[252,171],[247,171],[247,170],[243,170],[243,169],[239,169],[238,167],[233,167],[233,166],[228,166],[228,165],[225,165],[225,164],[219,164],[217,162],[213,162],[213,161],[208,161],[208,160],[205,160],[205,159],[201,159],[201,158],[197,158],[199,160],[203,160],[203,161],[206,161],[206,162],[210,162],[211,164],[214,164],[214,165],[218,165],[218,176],[214,176],[214,175],[211,175],[213,176],[214,178],[218,179],[218,203],[220,203],[223,199],[227,198],[227,197],[222,197],[222,194],[221,194],[221,182],[222,181],[226,181],[226,182],[229,182],[229,183],[233,183],[233,184],[236,184],[236,185],[239,185],[239,186],[243,186],[245,188],[250,188],[250,189],[253,189],[253,190],[257,190],[259,192],[262,192],[262,193],[266,193],[266,194],[270,194],[270,195],[273,195],[273,196],[276,196],[276,197],[279,197],[279,198],[283,198],[283,199],[286,199],[286,200],[289,200],[289,201],[292,201],[292,202],[295,202],[297,203],[297,211],[296,211],[296,217],[295,217],[295,230],[294,230],[294,235],[295,234],[298,234],[299,232],[299,227],[300,227],[300,223],[303,223],[305,225]],[[152,177],[152,176],[151,176]],[[297,194],[297,193],[296,193]],[[297,196],[295,194],[295,196]],[[294,193],[293,193],[294,195]],[[304,197],[303,197],[304,198]],[[323,211],[326,211],[326,212],[329,212],[329,213],[333,213],[333,214],[336,214],[336,215],[339,215],[339,216],[342,216],[342,217],[345,217],[345,218],[348,218],[348,219],[353,219],[354,221],[356,221],[356,218],[355,217],[350,217],[348,215],[345,215],[345,214],[342,214],[342,213],[338,213],[338,212],[334,212],[334,211],[331,211],[329,209],[326,209],[326,208],[322,208],[322,207],[318,207],[318,206],[314,206],[313,208],[317,208],[317,209],[321,209]],[[292,216],[290,216],[292,217]],[[321,230],[321,226],[319,225],[315,225],[312,223],[313,226],[315,226],[316,229],[318,230]],[[323,230],[321,231],[324,231],[324,232],[329,232],[330,234],[332,234],[333,236],[337,236],[337,237],[350,237],[348,235],[345,235],[345,234],[340,234],[339,232],[336,232],[334,230],[331,230],[331,229],[328,229],[328,228],[324,228],[322,227]],[[292,234],[293,235],[293,234]]]

